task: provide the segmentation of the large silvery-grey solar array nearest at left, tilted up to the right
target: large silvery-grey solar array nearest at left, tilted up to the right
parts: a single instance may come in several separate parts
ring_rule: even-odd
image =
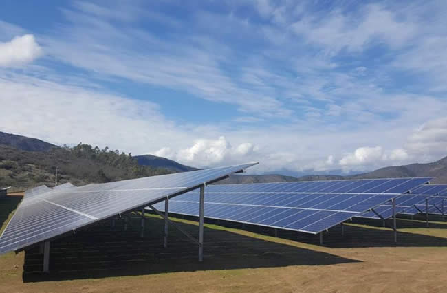
[[[254,164],[32,192],[0,236],[0,254],[20,250],[120,213],[154,204]],[[40,188],[41,189],[45,188]]]

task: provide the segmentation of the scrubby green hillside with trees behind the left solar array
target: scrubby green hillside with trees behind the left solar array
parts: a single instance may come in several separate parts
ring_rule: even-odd
[[[54,147],[47,151],[23,151],[0,145],[0,186],[14,190],[58,182],[75,185],[147,177],[169,173],[166,169],[140,166],[132,155],[99,149],[89,144]]]

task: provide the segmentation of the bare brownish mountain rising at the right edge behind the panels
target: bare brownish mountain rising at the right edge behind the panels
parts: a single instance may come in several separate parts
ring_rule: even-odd
[[[389,178],[389,177],[436,177],[431,183],[447,183],[447,157],[426,164],[409,164],[390,166],[369,173],[350,176],[349,178]]]

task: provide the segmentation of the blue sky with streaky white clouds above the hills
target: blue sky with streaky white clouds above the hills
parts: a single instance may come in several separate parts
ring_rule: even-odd
[[[0,2],[0,131],[196,167],[447,155],[446,1]]]

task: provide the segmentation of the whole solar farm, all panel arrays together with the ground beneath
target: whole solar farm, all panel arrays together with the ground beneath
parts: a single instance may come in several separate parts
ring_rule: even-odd
[[[446,290],[447,184],[214,184],[254,164],[8,195],[0,281],[16,277],[30,290],[98,280],[110,291],[119,281],[160,291]]]

